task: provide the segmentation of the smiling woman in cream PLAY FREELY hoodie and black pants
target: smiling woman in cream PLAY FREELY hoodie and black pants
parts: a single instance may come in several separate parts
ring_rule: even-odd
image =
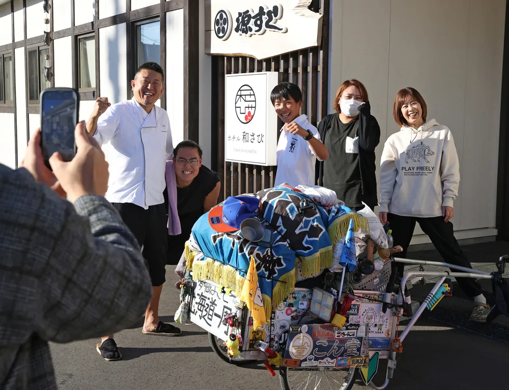
[[[393,116],[401,130],[387,139],[382,153],[380,221],[389,222],[394,245],[403,247],[401,257],[419,222],[447,263],[471,268],[450,222],[460,184],[453,134],[434,119],[426,121],[426,102],[413,88],[398,92]],[[479,284],[472,278],[458,278],[458,284],[474,300],[470,320],[486,322],[490,307]]]

